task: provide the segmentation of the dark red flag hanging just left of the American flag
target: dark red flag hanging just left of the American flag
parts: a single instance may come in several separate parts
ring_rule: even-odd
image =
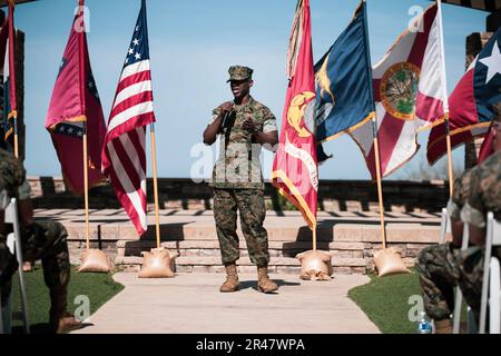
[[[65,181],[76,192],[84,192],[85,130],[88,137],[89,187],[100,180],[101,147],[106,134],[105,117],[90,69],[84,23],[84,0],[75,17],[50,100],[46,129],[61,164]]]

